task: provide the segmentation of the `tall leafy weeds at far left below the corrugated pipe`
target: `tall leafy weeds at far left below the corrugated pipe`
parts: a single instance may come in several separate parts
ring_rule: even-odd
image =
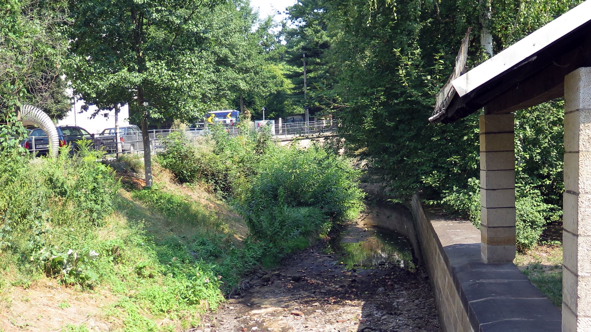
[[[64,284],[89,286],[97,281],[90,268],[96,252],[77,235],[112,213],[118,183],[97,162],[102,152],[91,151],[89,142],[79,146],[72,157],[64,147],[57,159],[13,154],[0,165],[0,250]]]

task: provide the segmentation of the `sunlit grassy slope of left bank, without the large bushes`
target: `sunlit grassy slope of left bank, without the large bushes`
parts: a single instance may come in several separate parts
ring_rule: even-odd
[[[91,156],[60,164],[61,175],[67,178]],[[46,171],[54,162],[22,163],[37,171],[34,180],[42,184],[37,190],[53,185],[56,178]],[[248,269],[244,256],[236,254],[243,253],[238,246],[246,246],[242,219],[199,187],[170,182],[164,170],[157,172],[159,187],[124,190],[108,167],[92,162],[89,167],[113,180],[108,182],[112,210],[105,208],[105,216],[89,223],[82,223],[85,213],[61,219],[58,213],[71,212],[76,202],[53,193],[38,207],[46,217],[37,220],[43,231],[5,232],[3,239],[12,242],[0,255],[0,326],[7,331],[179,331],[202,323],[223,301],[222,291],[238,284],[245,271],[239,269]],[[99,178],[85,180],[96,184]],[[229,258],[240,266],[220,262]],[[251,261],[249,268],[257,263]]]

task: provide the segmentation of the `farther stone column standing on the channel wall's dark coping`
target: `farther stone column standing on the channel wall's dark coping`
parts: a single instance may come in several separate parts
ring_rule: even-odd
[[[480,116],[480,253],[485,263],[515,258],[514,115]]]

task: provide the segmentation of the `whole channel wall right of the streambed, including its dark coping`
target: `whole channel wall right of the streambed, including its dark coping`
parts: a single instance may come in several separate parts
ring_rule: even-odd
[[[411,202],[445,332],[560,332],[561,315],[513,263],[486,264],[480,231]]]

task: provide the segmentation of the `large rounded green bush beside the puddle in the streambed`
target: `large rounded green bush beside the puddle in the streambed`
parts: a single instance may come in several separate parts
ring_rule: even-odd
[[[355,219],[363,207],[360,175],[318,146],[274,147],[235,198],[254,236],[288,243]]]

